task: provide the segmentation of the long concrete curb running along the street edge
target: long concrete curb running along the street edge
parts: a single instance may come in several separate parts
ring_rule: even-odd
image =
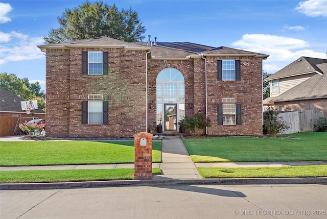
[[[112,180],[58,183],[2,183],[0,190],[24,189],[69,189],[110,186],[155,186],[155,185],[195,185],[195,184],[327,184],[327,177],[306,178],[220,178],[190,180]]]

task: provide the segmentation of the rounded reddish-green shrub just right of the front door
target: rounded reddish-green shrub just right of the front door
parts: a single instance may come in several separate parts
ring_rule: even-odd
[[[180,120],[179,126],[188,129],[193,137],[200,137],[202,130],[211,126],[211,121],[203,114],[186,116]]]

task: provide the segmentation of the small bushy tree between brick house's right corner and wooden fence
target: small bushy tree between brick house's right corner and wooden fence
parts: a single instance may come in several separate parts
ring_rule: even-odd
[[[268,135],[276,135],[282,130],[290,128],[285,121],[278,116],[278,112],[273,107],[268,107],[264,113],[263,133]]]

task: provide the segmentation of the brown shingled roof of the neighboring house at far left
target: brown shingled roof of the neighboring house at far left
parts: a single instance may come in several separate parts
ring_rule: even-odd
[[[19,96],[0,87],[0,111],[26,113],[21,110],[20,101],[24,101]],[[45,113],[41,109],[33,110],[35,113]]]

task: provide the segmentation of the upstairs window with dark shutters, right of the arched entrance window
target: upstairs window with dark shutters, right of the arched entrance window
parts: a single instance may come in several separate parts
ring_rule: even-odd
[[[218,81],[240,81],[241,60],[217,60]]]

